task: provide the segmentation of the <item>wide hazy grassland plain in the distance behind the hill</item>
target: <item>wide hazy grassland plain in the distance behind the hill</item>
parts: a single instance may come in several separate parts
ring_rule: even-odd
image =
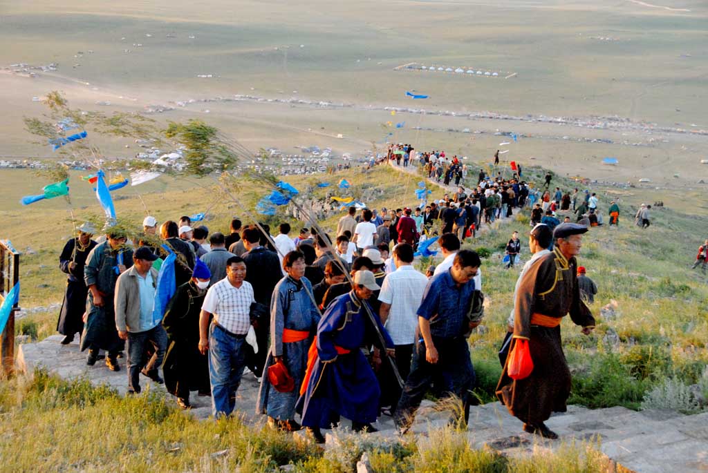
[[[700,165],[708,157],[707,136],[410,113],[391,117],[381,108],[618,116],[661,127],[708,129],[707,20],[704,2],[673,0],[660,5],[622,0],[3,0],[0,44],[6,47],[0,50],[0,66],[55,62],[59,68],[36,78],[2,71],[0,155],[52,156],[47,147],[31,143],[22,122],[41,114],[41,105],[31,99],[48,90],[62,90],[74,107],[104,112],[249,94],[355,106],[193,103],[156,117],[202,117],[253,149],[277,146],[295,152],[292,146],[317,144],[338,153],[365,151],[372,142],[383,146],[388,130],[382,124],[405,121],[397,141],[474,160],[489,159],[506,141],[494,132],[515,132],[527,137],[510,148],[507,160],[606,181],[646,177],[691,192],[702,188],[699,180],[708,180],[708,165]],[[394,70],[410,62],[518,75]],[[406,90],[430,99],[406,100]],[[96,105],[105,101],[111,105]],[[466,128],[471,133],[459,132]],[[576,141],[585,138],[612,144]],[[98,142],[108,156],[129,158],[139,151],[130,140]],[[617,157],[619,165],[600,165],[605,156]]]

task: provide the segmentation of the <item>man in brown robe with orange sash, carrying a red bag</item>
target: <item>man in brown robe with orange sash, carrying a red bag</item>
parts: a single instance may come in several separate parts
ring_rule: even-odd
[[[496,387],[498,399],[524,422],[524,431],[544,438],[558,438],[544,421],[554,411],[566,411],[571,392],[571,373],[561,346],[561,318],[570,313],[586,335],[595,328],[595,319],[580,298],[576,278],[575,256],[582,246],[581,235],[587,231],[577,223],[556,226],[554,251],[539,258],[520,281],[511,349],[518,339],[528,340],[533,370],[527,378],[513,380],[507,362]]]

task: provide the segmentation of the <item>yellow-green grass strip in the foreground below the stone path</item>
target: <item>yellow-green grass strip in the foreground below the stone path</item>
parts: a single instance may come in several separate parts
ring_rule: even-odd
[[[0,415],[3,468],[15,472],[273,472],[290,464],[297,472],[348,473],[364,452],[377,472],[580,473],[607,467],[593,443],[507,458],[474,450],[466,433],[451,428],[431,431],[420,443],[341,433],[324,451],[237,417],[198,421],[158,395],[120,397],[42,370],[0,383]]]

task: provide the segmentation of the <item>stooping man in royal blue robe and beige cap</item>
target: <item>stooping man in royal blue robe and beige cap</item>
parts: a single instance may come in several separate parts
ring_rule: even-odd
[[[374,327],[364,307],[379,289],[374,274],[357,271],[353,286],[350,293],[333,300],[322,316],[300,390],[302,425],[319,443],[324,442],[320,428],[331,428],[340,416],[352,421],[353,431],[376,431],[371,423],[379,413],[381,390],[361,347],[373,344],[377,350],[394,351],[393,341],[379,316],[371,311]],[[375,362],[377,358],[375,351]]]

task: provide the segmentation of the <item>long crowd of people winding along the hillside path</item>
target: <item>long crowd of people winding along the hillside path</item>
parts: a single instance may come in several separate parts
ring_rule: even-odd
[[[525,431],[555,438],[544,421],[565,409],[570,392],[559,323],[570,313],[585,334],[595,325],[586,303],[598,289],[575,257],[581,235],[601,221],[595,194],[550,192],[549,183],[540,193],[518,174],[491,179],[481,171],[476,187],[460,186],[422,209],[351,206],[331,234],[281,223],[272,235],[267,225],[234,218],[224,235],[193,228],[188,217],[158,226],[147,216],[128,242],[117,226],[94,240],[98,232],[86,223],[59,257],[68,284],[57,328],[64,344],[81,334],[88,365],[105,352],[106,366],[120,370],[127,353],[130,394],[141,391],[142,374],[165,383],[183,409],[196,391],[211,396],[215,417],[228,416],[246,373],[260,382],[254,407],[273,428],[304,427],[321,442],[321,429],[342,417],[354,431],[375,431],[377,418],[389,415],[405,433],[429,392],[469,406],[475,374],[467,339],[484,317],[484,296],[480,257],[462,243],[526,207],[532,257],[516,284],[501,353],[530,346],[535,368],[518,378],[503,358],[497,395]],[[556,209],[567,211],[563,222]],[[612,202],[608,211],[617,225],[619,207]],[[414,254],[434,235],[442,261],[423,273]],[[508,267],[523,247],[514,232]],[[697,261],[704,270],[706,247]],[[156,310],[171,252],[176,291]],[[466,423],[468,410],[456,412],[453,420]]]

